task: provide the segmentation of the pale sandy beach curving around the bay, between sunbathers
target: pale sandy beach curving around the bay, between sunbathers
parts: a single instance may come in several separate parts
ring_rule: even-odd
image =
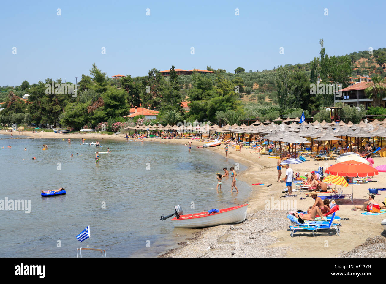
[[[0,131],[0,134],[10,135],[11,133]],[[13,134],[14,136],[18,135],[18,132]],[[107,135],[95,132],[73,134],[24,132],[23,136],[28,137],[20,139],[42,139],[42,144],[47,145],[49,145],[49,141],[45,141],[45,139],[52,138],[85,138],[86,142],[95,142],[98,139],[101,144],[103,144],[104,139],[125,141],[124,134]],[[189,140],[144,139],[144,143],[147,141],[185,144]],[[203,150],[195,148],[196,146],[202,146],[202,144],[203,142],[193,141],[192,151]],[[228,166],[223,145],[210,147],[209,150],[218,153],[218,158],[224,160],[224,167]],[[296,203],[293,203],[296,204],[296,209],[305,211],[313,205],[312,197],[306,197],[306,192],[294,192],[297,194],[296,197],[280,198],[284,195],[282,191],[286,187],[284,182],[277,181],[276,159],[259,154],[250,154],[247,148],[242,148],[241,153],[236,152],[233,147],[229,147],[228,157],[247,166],[247,170],[237,174],[238,179],[252,186],[247,219],[240,224],[200,229],[193,238],[179,243],[178,248],[170,250],[161,257],[358,257],[362,255],[371,257],[379,256],[380,251],[386,249],[386,231],[383,230],[381,225],[381,221],[386,218],[386,214],[370,216],[362,215],[361,213],[364,211],[359,209],[351,211],[354,206],[349,199],[336,201],[340,208],[337,215],[341,218],[349,218],[349,220],[340,221],[342,224],[340,236],[335,235],[332,230],[329,230],[328,233],[327,231],[315,233],[315,237],[312,236],[311,232],[303,233],[303,231],[300,231],[291,238],[288,230],[290,221],[286,218],[288,210],[273,210],[273,208],[266,209],[265,207],[272,200],[281,201],[281,199],[285,199],[287,202],[289,200],[288,204],[291,200],[292,202],[296,201]],[[309,160],[309,158],[307,160],[301,164],[291,165],[294,172],[304,175],[305,172],[309,173],[311,170],[317,170],[319,166],[326,168],[336,163],[335,160],[316,161]],[[386,161],[384,158],[374,158],[374,162],[375,166],[378,166]],[[218,169],[218,172],[221,173],[222,169]],[[281,177],[284,176],[285,170],[283,170]],[[372,179],[374,182],[354,185],[354,204],[362,205],[364,201],[368,200],[367,192],[369,188],[384,187],[386,174],[379,173]],[[259,182],[264,183],[264,185],[252,185]],[[332,187],[335,186],[332,185]],[[225,194],[230,188],[223,188],[222,190]],[[239,190],[243,189],[239,187]],[[345,193],[351,193],[351,185],[343,188],[343,190]],[[378,203],[381,203],[385,198],[385,192],[380,191],[379,193],[381,195],[376,195],[375,199]],[[306,199],[300,200],[300,197],[306,197]],[[367,243],[373,245],[374,251],[367,249],[368,246],[362,245],[367,238],[369,238]],[[356,248],[357,246],[361,247]]]

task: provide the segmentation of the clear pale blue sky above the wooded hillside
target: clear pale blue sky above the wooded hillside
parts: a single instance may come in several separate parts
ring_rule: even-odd
[[[319,54],[320,38],[329,55],[378,49],[386,47],[386,24],[379,14],[385,10],[383,0],[5,1],[0,85],[47,77],[75,82],[90,75],[94,62],[109,77],[144,76],[153,67],[171,65],[269,70],[309,62]]]

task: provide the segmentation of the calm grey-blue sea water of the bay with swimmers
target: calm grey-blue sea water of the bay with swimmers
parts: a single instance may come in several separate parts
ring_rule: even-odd
[[[80,145],[80,139],[68,145],[65,136],[64,141],[0,138],[5,147],[0,149],[0,199],[31,202],[29,214],[0,211],[0,257],[74,257],[76,248],[86,245],[104,248],[108,257],[154,257],[195,231],[174,228],[159,216],[174,213],[177,204],[184,213],[243,204],[251,190],[237,181],[240,193],[230,193],[231,180],[223,179],[217,194],[215,173],[235,161],[203,148],[188,153],[177,144],[101,141],[99,151],[110,147],[112,153],[101,153],[95,165],[97,148]],[[49,149],[41,150],[43,144]],[[40,195],[42,189],[59,187],[67,194]],[[91,238],[79,243],[76,235],[88,225]]]

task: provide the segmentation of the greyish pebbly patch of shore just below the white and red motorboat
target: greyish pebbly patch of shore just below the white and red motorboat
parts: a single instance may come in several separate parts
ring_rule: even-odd
[[[204,229],[200,238],[161,257],[284,257],[288,248],[269,247],[279,241],[269,233],[288,228],[283,216],[279,210],[247,214],[244,222]]]

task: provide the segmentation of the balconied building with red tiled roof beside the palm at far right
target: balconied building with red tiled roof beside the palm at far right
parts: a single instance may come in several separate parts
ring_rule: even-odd
[[[367,77],[365,78],[368,79]],[[374,104],[374,98],[368,98],[364,93],[364,90],[369,86],[369,82],[360,82],[344,88],[341,90],[340,94],[335,95],[335,102],[343,102],[353,107],[357,107],[362,104],[366,109],[368,109]],[[383,100],[381,100],[381,104],[376,106],[385,107],[385,101],[386,98],[383,98]]]

